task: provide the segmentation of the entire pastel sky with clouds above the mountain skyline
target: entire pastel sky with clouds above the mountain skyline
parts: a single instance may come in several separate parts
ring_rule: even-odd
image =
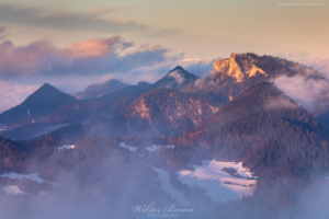
[[[0,112],[48,82],[64,92],[209,73],[231,53],[329,72],[329,0],[0,0]],[[329,74],[329,73],[328,73]]]

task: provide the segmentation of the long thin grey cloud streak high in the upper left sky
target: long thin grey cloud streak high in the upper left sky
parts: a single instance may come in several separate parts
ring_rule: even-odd
[[[98,31],[118,33],[145,31],[145,25],[125,19],[105,19],[102,15],[115,10],[127,8],[98,8],[90,12],[68,13],[58,12],[44,14],[37,8],[26,8],[15,4],[0,4],[0,21],[8,24],[56,28],[61,31]]]

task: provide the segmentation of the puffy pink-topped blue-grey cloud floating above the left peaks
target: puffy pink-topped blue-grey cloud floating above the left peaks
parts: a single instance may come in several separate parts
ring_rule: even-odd
[[[27,46],[15,46],[10,41],[4,41],[0,44],[0,76],[10,78],[128,72],[137,67],[167,61],[167,51],[159,45],[137,47],[121,36],[90,38],[64,48],[58,48],[46,39]]]

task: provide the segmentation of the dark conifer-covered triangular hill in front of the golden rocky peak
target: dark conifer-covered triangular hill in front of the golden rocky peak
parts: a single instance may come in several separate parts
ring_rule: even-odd
[[[253,170],[299,173],[328,168],[328,131],[274,84],[253,85],[195,129],[173,139],[214,157],[245,160]]]

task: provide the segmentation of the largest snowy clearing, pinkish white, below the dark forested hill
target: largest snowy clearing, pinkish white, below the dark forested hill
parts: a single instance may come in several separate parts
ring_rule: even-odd
[[[235,174],[229,174],[223,169],[229,169]],[[256,189],[257,180],[251,172],[242,168],[242,162],[203,161],[203,165],[194,165],[195,171],[178,172],[178,180],[190,187],[197,186],[204,188],[214,201],[226,201],[251,196]]]

